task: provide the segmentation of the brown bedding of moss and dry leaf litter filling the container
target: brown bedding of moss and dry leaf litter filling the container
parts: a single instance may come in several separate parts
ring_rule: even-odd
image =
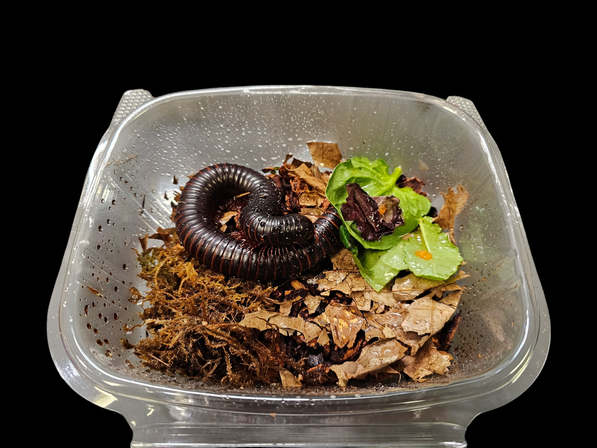
[[[287,155],[281,167],[263,171],[281,190],[284,213],[316,218],[329,205],[325,187],[331,174],[318,167],[334,168],[341,155],[337,145],[308,145],[315,163]],[[404,176],[399,184],[419,194],[424,185]],[[454,217],[467,197],[461,185],[456,192],[449,189],[434,220],[451,232],[451,240]],[[388,199],[378,200],[380,216],[395,207]],[[224,232],[235,229],[246,197],[233,201],[221,210]],[[161,240],[162,246],[148,247],[150,239]],[[353,253],[341,248],[329,265],[318,267],[319,273],[261,284],[226,278],[200,265],[184,251],[173,228],[139,240],[139,276],[147,291],[143,295],[131,288],[130,301],[144,307],[140,315],[149,336],[136,344],[122,339],[122,344],[147,367],[206,384],[287,388],[346,386],[402,374],[422,382],[448,372],[452,357],[447,351],[464,290],[456,281],[469,277],[464,271],[444,281],[408,274],[396,278],[391,289],[376,292],[359,273]]]

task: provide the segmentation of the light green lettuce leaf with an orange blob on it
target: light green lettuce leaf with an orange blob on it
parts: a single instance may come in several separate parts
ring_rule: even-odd
[[[460,252],[431,217],[418,221],[419,228],[404,244],[404,261],[417,277],[446,280],[462,263]]]

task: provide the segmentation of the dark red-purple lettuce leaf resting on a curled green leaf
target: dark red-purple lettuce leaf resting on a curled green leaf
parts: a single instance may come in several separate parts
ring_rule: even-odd
[[[354,221],[365,241],[379,241],[392,235],[394,229],[404,224],[400,200],[393,196],[372,198],[358,183],[346,185],[348,196],[340,211],[344,221]],[[380,206],[383,214],[380,213]]]

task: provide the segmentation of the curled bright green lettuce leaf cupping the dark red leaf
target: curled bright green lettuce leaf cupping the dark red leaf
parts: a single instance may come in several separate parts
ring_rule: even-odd
[[[325,195],[336,207],[350,235],[365,248],[383,250],[396,246],[401,236],[416,228],[418,219],[429,213],[431,202],[426,197],[417,194],[411,188],[396,186],[396,180],[400,174],[402,170],[399,167],[389,174],[389,166],[382,159],[372,162],[365,157],[353,157],[338,164],[330,176]],[[346,202],[348,196],[346,184],[352,182],[358,183],[371,197],[393,195],[398,198],[404,216],[404,225],[398,226],[392,235],[381,237],[380,241],[365,241],[361,238],[361,232],[356,229],[355,223],[344,221],[340,213],[340,207]]]

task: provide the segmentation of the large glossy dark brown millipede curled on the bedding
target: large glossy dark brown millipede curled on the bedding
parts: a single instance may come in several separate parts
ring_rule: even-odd
[[[220,206],[243,193],[241,231],[219,229]],[[235,164],[204,168],[184,186],[175,215],[184,248],[200,263],[232,277],[272,280],[311,268],[340,240],[341,220],[330,205],[315,223],[300,214],[282,214],[275,184]]]

